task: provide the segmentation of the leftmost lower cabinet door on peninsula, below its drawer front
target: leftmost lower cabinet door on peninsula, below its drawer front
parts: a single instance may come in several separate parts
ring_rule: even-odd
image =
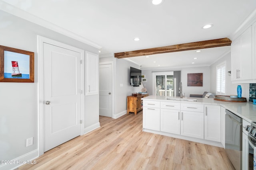
[[[143,128],[160,131],[160,108],[143,107]]]

